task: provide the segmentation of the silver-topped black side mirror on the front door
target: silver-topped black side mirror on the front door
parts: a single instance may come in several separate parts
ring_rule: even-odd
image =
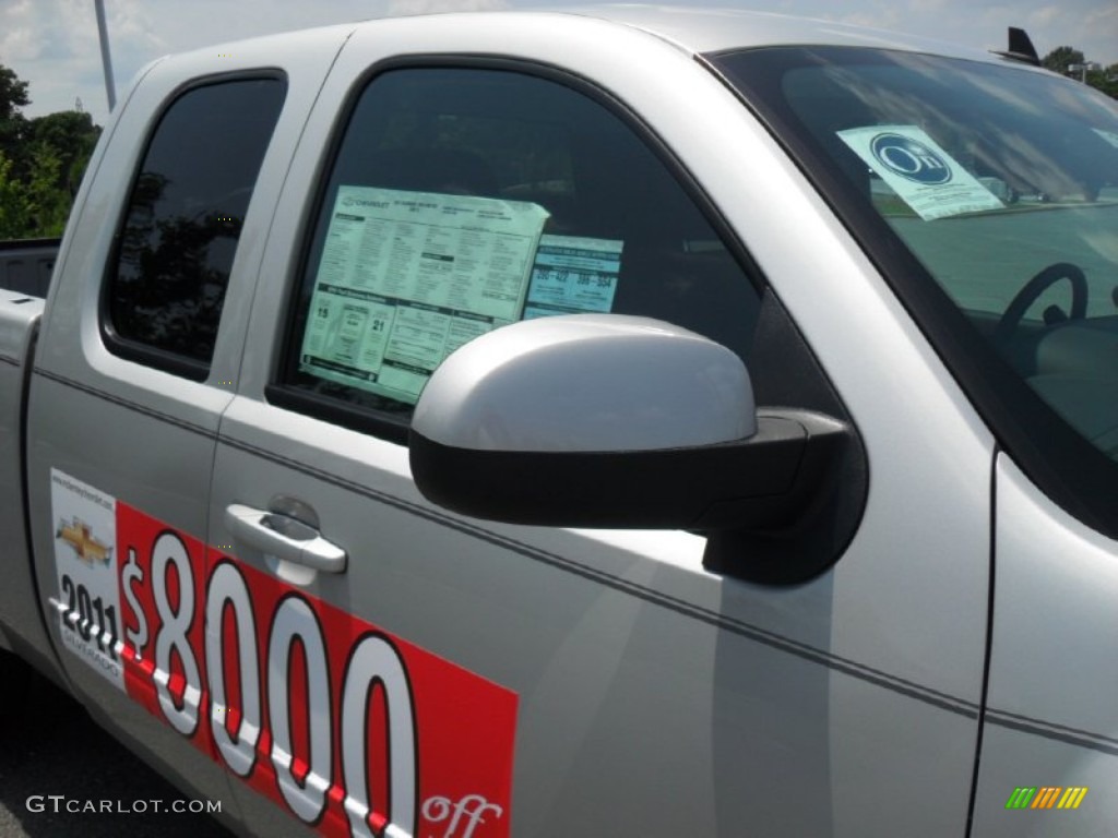
[[[518,524],[738,530],[795,523],[842,422],[758,411],[730,350],[644,317],[515,323],[465,344],[416,406],[427,499]]]

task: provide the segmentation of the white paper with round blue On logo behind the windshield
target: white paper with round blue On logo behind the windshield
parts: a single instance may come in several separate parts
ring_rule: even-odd
[[[872,125],[837,133],[925,221],[1004,208],[915,125]]]

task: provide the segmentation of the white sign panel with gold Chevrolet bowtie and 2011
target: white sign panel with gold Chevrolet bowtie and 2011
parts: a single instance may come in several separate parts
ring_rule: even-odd
[[[65,647],[119,688],[121,597],[116,572],[116,501],[93,486],[50,469],[55,568]]]

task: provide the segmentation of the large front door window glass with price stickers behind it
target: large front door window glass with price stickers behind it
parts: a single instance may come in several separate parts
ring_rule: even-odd
[[[665,163],[559,83],[398,69],[360,96],[305,264],[286,380],[406,418],[454,349],[616,312],[745,354],[758,298]]]

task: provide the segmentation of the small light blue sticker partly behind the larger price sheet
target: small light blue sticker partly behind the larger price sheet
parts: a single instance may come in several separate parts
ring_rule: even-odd
[[[622,269],[618,239],[542,236],[532,266],[524,320],[609,312]]]

